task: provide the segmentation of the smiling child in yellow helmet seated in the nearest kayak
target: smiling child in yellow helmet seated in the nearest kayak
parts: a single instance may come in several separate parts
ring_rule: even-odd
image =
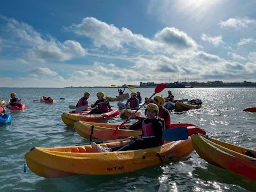
[[[142,122],[142,134],[138,137],[130,137],[131,142],[125,146],[117,147],[101,147],[95,142],[92,142],[92,149],[94,152],[111,152],[111,151],[126,151],[137,150],[163,145],[162,134],[163,125],[159,118],[157,118],[158,106],[154,103],[147,105],[145,110],[146,119]],[[148,138],[142,138],[148,137]]]

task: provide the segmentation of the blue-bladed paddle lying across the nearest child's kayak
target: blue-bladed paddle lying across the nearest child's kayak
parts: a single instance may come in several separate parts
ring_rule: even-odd
[[[162,139],[165,141],[179,141],[179,140],[185,140],[188,139],[188,129],[187,127],[178,127],[178,128],[172,128],[172,129],[167,129],[163,131],[163,137]],[[155,136],[149,136],[149,137],[142,137],[143,139],[145,138],[153,138]],[[97,144],[100,143],[109,143],[109,142],[116,142],[116,141],[128,141],[130,140],[129,138],[124,138],[124,139],[114,139],[114,140],[107,140],[107,141],[99,141],[95,142]],[[91,143],[82,143],[82,144],[76,144],[75,146],[82,146],[82,145],[91,145]]]

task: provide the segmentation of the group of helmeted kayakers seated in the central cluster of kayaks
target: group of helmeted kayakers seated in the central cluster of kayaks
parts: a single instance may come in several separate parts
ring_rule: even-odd
[[[125,89],[124,89],[125,90]],[[119,95],[123,94],[124,90],[118,89]],[[169,94],[170,91],[168,92]],[[134,109],[139,109],[139,103],[141,102],[141,95],[138,91],[137,93],[132,92],[131,97],[126,101],[125,107],[130,107]],[[105,94],[103,92],[98,92],[98,100],[91,105],[91,107],[97,106],[90,111],[89,114],[101,114],[106,113],[108,109],[111,109],[109,102],[104,98]],[[170,95],[171,96],[171,95]],[[84,97],[79,99],[76,107],[87,106],[89,107],[87,99],[89,99],[90,93],[85,92]],[[97,145],[92,142],[92,148],[94,152],[109,152],[109,151],[119,151],[119,150],[136,150],[149,147],[161,146],[162,142],[162,131],[169,129],[171,124],[171,116],[169,111],[163,107],[165,99],[161,96],[155,96],[152,102],[148,103],[145,109],[145,118],[138,117],[135,113],[132,117],[139,119],[137,123],[131,125],[129,129],[137,130],[142,127],[142,134],[138,137],[131,137],[131,142],[125,146],[106,148]],[[146,138],[145,138],[146,137]]]

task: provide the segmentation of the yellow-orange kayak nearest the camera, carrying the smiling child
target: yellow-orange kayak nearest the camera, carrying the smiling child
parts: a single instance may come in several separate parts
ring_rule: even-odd
[[[125,145],[130,141],[102,143],[103,147]],[[91,145],[41,148],[25,154],[31,171],[45,178],[60,178],[75,174],[110,175],[132,172],[148,166],[178,159],[193,150],[191,138],[171,141],[159,147],[93,153]]]

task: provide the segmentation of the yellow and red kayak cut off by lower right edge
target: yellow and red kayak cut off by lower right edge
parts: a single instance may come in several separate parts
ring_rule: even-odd
[[[191,138],[197,154],[208,163],[256,181],[256,150],[206,139],[201,134],[194,134]]]

